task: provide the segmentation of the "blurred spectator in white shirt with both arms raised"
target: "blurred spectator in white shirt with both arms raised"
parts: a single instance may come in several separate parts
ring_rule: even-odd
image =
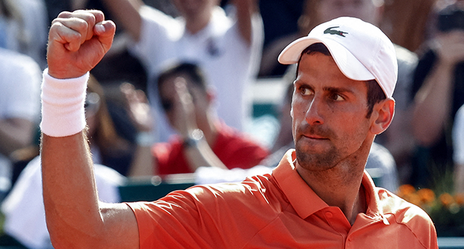
[[[263,27],[256,0],[233,1],[231,16],[217,0],[173,1],[181,17],[171,18],[142,1],[105,0],[124,30],[133,38],[131,49],[151,78],[172,60],[195,61],[217,91],[218,116],[243,130],[250,115],[248,86],[258,73]],[[148,99],[156,110],[160,141],[170,134],[163,118],[155,83],[148,83]]]

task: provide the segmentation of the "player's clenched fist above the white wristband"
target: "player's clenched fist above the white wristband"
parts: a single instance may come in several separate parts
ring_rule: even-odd
[[[115,31],[101,11],[61,12],[49,32],[49,75],[60,79],[84,75],[109,51]]]

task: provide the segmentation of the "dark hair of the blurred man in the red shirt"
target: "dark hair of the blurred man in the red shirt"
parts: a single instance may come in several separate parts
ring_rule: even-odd
[[[197,64],[187,62],[172,65],[167,70],[164,70],[158,76],[158,90],[168,78],[181,74],[188,75],[188,80],[191,80],[191,83],[206,91],[207,83],[203,71]]]

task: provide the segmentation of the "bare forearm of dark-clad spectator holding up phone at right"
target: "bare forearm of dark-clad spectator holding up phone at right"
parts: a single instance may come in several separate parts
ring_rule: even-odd
[[[453,66],[438,63],[414,100],[413,134],[425,146],[433,144],[448,122],[453,91]]]

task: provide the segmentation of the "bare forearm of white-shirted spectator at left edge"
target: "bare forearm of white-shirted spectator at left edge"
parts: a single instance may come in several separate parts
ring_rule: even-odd
[[[9,156],[16,149],[21,149],[32,142],[34,124],[29,120],[14,118],[0,120],[0,154]]]

